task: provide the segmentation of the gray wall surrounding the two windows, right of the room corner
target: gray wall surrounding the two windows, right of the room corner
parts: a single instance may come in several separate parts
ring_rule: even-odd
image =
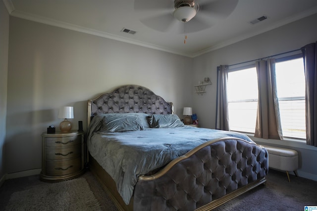
[[[217,66],[237,64],[299,49],[308,43],[316,42],[316,26],[317,14],[194,58],[193,80],[195,83],[197,84],[204,77],[210,77],[212,82],[212,85],[207,86],[207,92],[203,96],[193,96],[193,102],[195,102],[193,109],[198,114],[200,125],[208,128],[215,127]],[[317,160],[317,147],[296,141],[256,140],[296,149],[300,153],[300,176],[317,180],[317,166],[312,162]]]

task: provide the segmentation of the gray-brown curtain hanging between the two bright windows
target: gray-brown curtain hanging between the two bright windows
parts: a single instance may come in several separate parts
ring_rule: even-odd
[[[259,100],[255,137],[283,139],[275,80],[275,59],[257,61]]]

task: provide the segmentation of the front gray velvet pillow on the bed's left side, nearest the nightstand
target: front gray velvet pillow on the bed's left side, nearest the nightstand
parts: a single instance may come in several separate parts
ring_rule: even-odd
[[[144,130],[142,121],[135,114],[111,113],[104,114],[102,132],[120,132]]]

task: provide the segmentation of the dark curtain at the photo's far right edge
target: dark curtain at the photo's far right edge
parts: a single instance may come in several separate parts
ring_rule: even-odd
[[[317,42],[301,48],[305,70],[306,142],[317,147]]]

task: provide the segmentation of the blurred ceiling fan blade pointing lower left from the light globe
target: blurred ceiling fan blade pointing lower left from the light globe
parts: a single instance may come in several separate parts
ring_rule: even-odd
[[[177,22],[172,14],[158,15],[140,20],[147,27],[160,31],[167,32],[172,25]]]

